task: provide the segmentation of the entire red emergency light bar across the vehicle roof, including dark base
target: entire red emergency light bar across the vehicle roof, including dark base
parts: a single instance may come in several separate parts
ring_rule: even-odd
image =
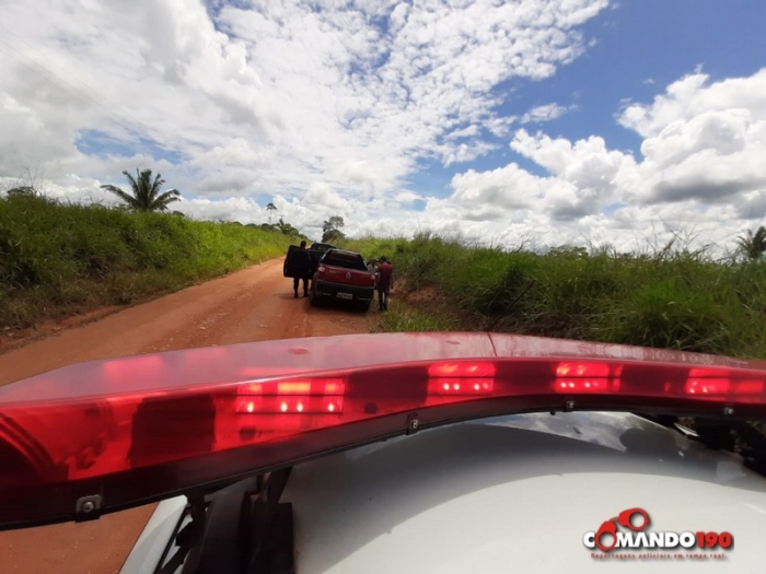
[[[766,419],[766,363],[490,333],[83,363],[0,387],[0,528],[96,517],[452,421],[562,410]]]

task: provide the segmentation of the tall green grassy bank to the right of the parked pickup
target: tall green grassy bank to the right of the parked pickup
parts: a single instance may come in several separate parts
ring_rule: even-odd
[[[427,234],[347,241],[404,279],[383,330],[494,330],[766,358],[766,265],[659,250],[638,257],[471,248]]]

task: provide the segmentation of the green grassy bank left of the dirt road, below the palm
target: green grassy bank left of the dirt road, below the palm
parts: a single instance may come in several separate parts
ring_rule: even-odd
[[[295,237],[167,213],[0,198],[0,329],[178,290],[282,255]]]

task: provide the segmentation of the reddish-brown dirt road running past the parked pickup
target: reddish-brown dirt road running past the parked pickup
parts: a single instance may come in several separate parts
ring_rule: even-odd
[[[373,314],[316,309],[293,298],[281,260],[271,260],[0,354],[0,385],[95,359],[368,332],[373,320]],[[0,572],[118,572],[152,509],[0,532]]]

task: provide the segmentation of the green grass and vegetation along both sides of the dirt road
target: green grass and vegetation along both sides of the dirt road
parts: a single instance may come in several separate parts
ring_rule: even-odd
[[[281,219],[195,222],[62,204],[32,187],[11,191],[0,198],[3,328],[181,289],[281,256],[301,238]],[[324,239],[329,233],[343,247],[394,263],[383,330],[492,330],[766,358],[763,227],[741,237],[736,257],[717,260],[670,245],[638,255],[566,246],[539,255],[431,234],[347,239],[343,223],[326,221]]]

